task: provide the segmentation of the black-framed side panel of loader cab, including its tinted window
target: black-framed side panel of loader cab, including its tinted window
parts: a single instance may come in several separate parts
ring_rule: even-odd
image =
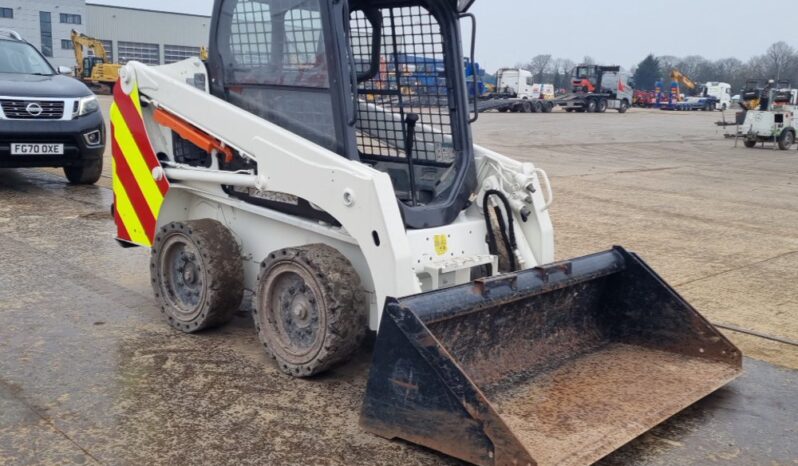
[[[214,95],[351,157],[341,2],[216,0],[214,9]]]

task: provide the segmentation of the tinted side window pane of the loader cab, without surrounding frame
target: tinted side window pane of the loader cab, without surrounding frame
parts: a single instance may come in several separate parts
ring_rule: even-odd
[[[227,0],[217,48],[232,104],[343,154],[321,0]]]

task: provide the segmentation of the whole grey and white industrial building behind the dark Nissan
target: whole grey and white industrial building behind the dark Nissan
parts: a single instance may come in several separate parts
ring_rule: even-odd
[[[85,0],[0,0],[0,28],[19,32],[54,66],[74,66],[73,29],[103,41],[110,61],[159,65],[198,56],[208,16],[127,8]]]

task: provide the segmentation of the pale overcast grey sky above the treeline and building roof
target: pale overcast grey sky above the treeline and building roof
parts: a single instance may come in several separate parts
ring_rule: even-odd
[[[89,3],[210,14],[213,0]],[[783,40],[798,47],[795,0],[477,0],[477,61],[488,71],[549,53],[589,55],[626,68],[648,53],[710,59],[762,54]],[[762,16],[758,16],[762,15]]]

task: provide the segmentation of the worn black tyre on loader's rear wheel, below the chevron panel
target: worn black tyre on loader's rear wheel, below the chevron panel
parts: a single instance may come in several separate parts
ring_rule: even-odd
[[[165,256],[180,242],[188,246],[199,265],[195,271],[200,297],[193,309],[180,309],[180,298],[172,292],[174,284],[164,275]],[[230,230],[212,219],[172,222],[162,227],[150,254],[150,275],[161,312],[169,325],[184,333],[226,324],[244,297],[241,250]]]

